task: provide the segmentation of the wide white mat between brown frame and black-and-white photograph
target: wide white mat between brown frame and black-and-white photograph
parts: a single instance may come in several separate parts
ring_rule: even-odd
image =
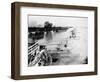
[[[73,13],[74,12],[74,13]],[[28,67],[28,23],[27,15],[58,15],[88,17],[88,64],[46,67]],[[20,8],[20,75],[42,75],[58,73],[94,72],[94,16],[93,10],[56,9],[39,7]]]

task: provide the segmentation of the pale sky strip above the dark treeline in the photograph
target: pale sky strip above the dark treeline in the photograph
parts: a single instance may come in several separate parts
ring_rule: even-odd
[[[28,26],[44,25],[45,21],[53,23],[54,26],[87,27],[88,18],[83,17],[61,17],[61,16],[28,16]]]

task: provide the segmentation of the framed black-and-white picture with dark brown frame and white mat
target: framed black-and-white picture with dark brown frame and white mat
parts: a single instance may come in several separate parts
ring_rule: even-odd
[[[97,75],[97,7],[12,3],[13,79]]]

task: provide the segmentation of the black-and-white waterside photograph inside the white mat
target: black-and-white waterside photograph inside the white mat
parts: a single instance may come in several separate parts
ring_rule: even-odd
[[[28,67],[88,64],[88,18],[28,15]]]

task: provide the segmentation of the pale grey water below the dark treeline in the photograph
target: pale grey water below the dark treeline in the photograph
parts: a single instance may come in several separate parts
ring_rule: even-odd
[[[87,55],[87,29],[78,28],[76,38],[70,39],[71,29],[61,32],[45,32],[44,38],[38,40],[39,45],[46,45],[47,50],[55,50],[60,47],[58,61],[52,65],[83,64]],[[64,45],[67,42],[67,47]]]

